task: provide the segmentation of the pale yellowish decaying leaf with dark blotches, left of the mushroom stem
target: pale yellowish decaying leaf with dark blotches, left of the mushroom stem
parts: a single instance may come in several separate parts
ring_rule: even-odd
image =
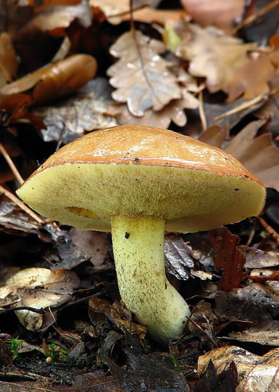
[[[78,276],[71,270],[27,268],[11,276],[4,286],[0,287],[0,297],[5,300],[7,296],[19,296],[17,301],[10,304],[12,307],[32,307],[40,310],[58,307],[69,301],[74,288],[79,285]],[[28,309],[15,309],[14,312],[30,331],[38,331],[43,325],[42,312]]]

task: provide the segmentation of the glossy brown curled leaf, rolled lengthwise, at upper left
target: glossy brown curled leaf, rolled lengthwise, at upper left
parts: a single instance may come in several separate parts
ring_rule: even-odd
[[[38,105],[76,91],[93,78],[96,71],[97,63],[93,56],[75,54],[23,76],[0,89],[0,92],[10,96],[32,89],[32,104]]]

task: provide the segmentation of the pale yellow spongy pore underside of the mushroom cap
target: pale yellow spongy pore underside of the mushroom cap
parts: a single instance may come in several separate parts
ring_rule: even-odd
[[[265,202],[265,188],[251,179],[140,164],[52,166],[17,194],[45,217],[100,231],[118,215],[163,218],[167,231],[209,230],[258,215]]]

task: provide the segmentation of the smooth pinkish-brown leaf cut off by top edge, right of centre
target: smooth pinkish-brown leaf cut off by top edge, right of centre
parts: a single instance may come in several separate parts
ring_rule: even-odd
[[[230,30],[234,21],[241,17],[245,0],[181,0],[181,5],[200,25]]]

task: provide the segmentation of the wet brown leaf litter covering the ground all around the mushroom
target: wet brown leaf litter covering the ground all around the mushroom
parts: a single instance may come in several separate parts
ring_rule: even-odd
[[[232,35],[234,14],[228,8],[221,15],[228,17],[225,22],[214,18],[216,25],[201,26],[201,10],[191,14],[189,8],[187,14],[152,6],[133,3],[130,26],[126,0],[118,9],[111,1],[19,1],[13,7],[24,10],[21,17],[5,15],[3,391],[277,388],[278,39],[266,26],[266,45],[245,41],[254,22]],[[216,17],[213,6],[210,10]],[[225,23],[225,32],[219,23]],[[88,131],[115,124],[194,135],[238,157],[269,188],[259,219],[166,235],[168,279],[192,310],[188,331],[169,347],[150,340],[120,301],[108,233],[46,221],[12,196],[36,161],[43,163]],[[24,360],[11,358],[8,350],[7,340],[16,345],[17,337]]]

